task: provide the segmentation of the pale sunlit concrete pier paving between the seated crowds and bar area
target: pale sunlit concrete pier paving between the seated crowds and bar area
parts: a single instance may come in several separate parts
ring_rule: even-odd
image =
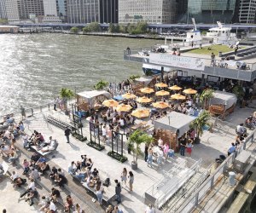
[[[229,115],[226,118],[226,121],[218,121],[217,126],[213,128],[213,132],[208,131],[204,132],[204,135],[201,137],[201,144],[195,145],[193,148],[192,157],[195,160],[202,158],[202,170],[206,169],[210,164],[212,164],[215,158],[218,158],[218,155],[227,153],[230,143],[235,141],[235,128],[236,124],[244,122],[244,119],[248,115],[252,114],[255,111],[253,106],[255,106],[255,101],[250,104],[251,107],[246,108],[236,108],[236,111]],[[67,116],[64,115],[60,110],[55,112],[53,107],[49,107],[49,110],[46,108],[42,113],[34,114],[33,117],[26,118],[24,124],[26,127],[26,133],[31,135],[33,130],[38,130],[44,135],[44,138],[48,138],[50,135],[53,136],[59,142],[59,147],[57,148],[56,153],[49,154],[47,157],[50,162],[59,165],[63,170],[67,171],[67,167],[73,160],[79,160],[81,154],[87,154],[94,162],[94,167],[99,169],[100,172],[106,172],[110,176],[110,180],[119,179],[120,174],[123,168],[131,170],[131,161],[132,156],[127,154],[125,151],[125,156],[128,157],[128,161],[124,164],[121,164],[114,160],[113,158],[108,157],[107,153],[110,147],[106,147],[106,150],[102,152],[96,151],[95,149],[88,147],[85,142],[78,141],[71,138],[71,143],[66,143],[66,138],[63,130],[56,128],[55,126],[48,124],[45,118],[48,115],[52,115],[55,118],[60,118],[61,120],[69,123],[70,120]],[[16,116],[16,122],[19,122],[20,115]],[[212,121],[213,122],[213,121]],[[89,124],[84,119],[84,135],[90,138],[89,135]],[[18,141],[19,146],[21,141]],[[53,158],[55,155],[55,158]],[[128,187],[122,189],[122,202],[119,204],[119,208],[124,210],[124,212],[144,212],[146,205],[143,203],[143,195],[151,187],[154,182],[159,181],[166,175],[166,171],[170,170],[176,164],[179,164],[183,161],[178,153],[176,157],[167,160],[167,162],[160,168],[149,168],[147,164],[143,161],[143,158],[138,160],[138,170],[133,171],[135,176],[134,181],[134,192],[129,193]],[[9,189],[8,186],[4,187],[1,184],[3,189]],[[5,190],[4,189],[4,190]],[[8,197],[11,198],[12,193],[9,193]],[[11,208],[8,202],[8,199],[5,200],[2,204],[6,208]],[[15,201],[14,201],[15,202]],[[92,204],[91,200],[88,200]],[[1,202],[2,203],[2,202]],[[113,202],[116,204],[116,202]],[[21,204],[22,205],[22,204]],[[99,206],[97,203],[95,205]],[[27,210],[26,212],[32,212],[33,210]],[[164,210],[165,211],[165,210]],[[19,212],[19,211],[16,211]]]

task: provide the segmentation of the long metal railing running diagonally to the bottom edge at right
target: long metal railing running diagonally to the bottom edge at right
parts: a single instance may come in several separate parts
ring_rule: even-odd
[[[205,198],[207,192],[212,189],[214,184],[218,181],[219,177],[222,176],[227,171],[227,168],[229,168],[230,165],[234,163],[236,156],[247,147],[252,145],[255,139],[255,135],[256,130],[254,130],[251,135],[247,136],[246,141],[241,144],[241,147],[236,150],[236,153],[230,154],[230,156],[226,158],[221,165],[218,166],[217,170],[215,170],[214,173],[208,177],[207,181],[203,182],[201,187],[199,187],[198,190],[189,199],[184,201],[183,205],[176,212],[185,213],[195,209],[201,200]]]

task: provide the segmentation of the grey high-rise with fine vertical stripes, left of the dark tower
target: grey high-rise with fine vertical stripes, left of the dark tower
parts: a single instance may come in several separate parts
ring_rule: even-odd
[[[99,0],[67,0],[69,23],[99,22]]]

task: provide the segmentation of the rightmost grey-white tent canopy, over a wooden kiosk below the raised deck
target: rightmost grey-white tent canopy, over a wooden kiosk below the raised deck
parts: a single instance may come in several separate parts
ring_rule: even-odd
[[[210,105],[224,105],[225,110],[236,104],[237,98],[233,93],[215,91],[213,98],[210,100]]]

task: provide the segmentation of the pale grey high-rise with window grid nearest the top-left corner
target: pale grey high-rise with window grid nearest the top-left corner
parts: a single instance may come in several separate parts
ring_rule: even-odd
[[[43,0],[7,0],[5,7],[9,22],[19,22],[44,15]]]

